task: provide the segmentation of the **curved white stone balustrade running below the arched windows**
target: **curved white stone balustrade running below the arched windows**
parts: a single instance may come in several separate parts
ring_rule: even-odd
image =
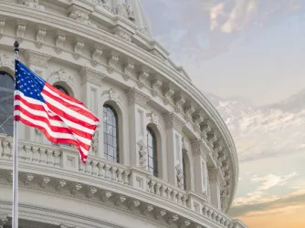
[[[61,170],[67,172],[71,171],[71,169],[68,168],[67,163],[70,162],[70,157],[74,156],[74,158],[77,158],[79,161],[76,162],[75,165],[73,165],[73,167],[75,168],[75,170],[73,171],[74,173],[75,171],[79,171],[81,175],[89,175],[90,177],[95,177],[98,180],[110,181],[112,183],[114,182],[117,184],[121,184],[121,186],[125,186],[124,188],[134,188],[135,191],[139,190],[139,188],[137,187],[138,183],[136,181],[131,181],[131,177],[135,174],[137,174],[138,177],[142,175],[144,180],[142,192],[147,192],[150,195],[153,194],[153,197],[158,197],[159,200],[163,199],[172,205],[178,206],[178,208],[180,209],[184,208],[184,210],[188,210],[190,212],[197,212],[197,214],[200,214],[200,217],[203,217],[208,221],[213,221],[213,223],[216,224],[216,226],[214,227],[233,228],[236,227],[236,223],[240,223],[233,221],[224,212],[221,212],[220,210],[217,210],[213,206],[206,203],[206,198],[203,195],[198,195],[195,192],[185,192],[184,190],[177,188],[168,182],[149,175],[147,171],[126,167],[118,163],[112,163],[110,161],[105,161],[103,159],[91,156],[89,156],[89,159],[86,164],[83,164],[79,160],[78,152],[73,148],[65,146],[52,146],[19,140],[18,148],[20,166],[32,163],[33,166],[41,165],[49,168],[53,167],[56,168],[57,171]],[[0,135],[0,159],[4,164],[5,161],[9,161],[9,164],[11,164],[12,156],[12,137]],[[26,165],[26,167],[28,168],[29,166]],[[35,174],[35,171],[33,172],[33,174]],[[26,173],[27,175],[31,175],[28,174],[28,171],[26,171]],[[93,193],[98,191],[97,188],[94,187],[91,187],[91,189],[94,190]],[[136,198],[136,196],[134,197]],[[141,203],[143,204],[145,202]],[[148,204],[148,208],[152,209],[153,205]],[[158,210],[155,212],[155,214],[160,215],[159,213],[165,214],[165,211]],[[166,213],[171,213],[172,219],[175,219],[178,216],[173,212]],[[179,216],[179,218],[181,218],[181,215]],[[185,224],[186,223],[188,223],[188,220],[185,220]]]

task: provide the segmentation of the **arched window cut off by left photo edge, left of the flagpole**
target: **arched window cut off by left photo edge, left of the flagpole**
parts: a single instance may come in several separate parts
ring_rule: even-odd
[[[0,133],[13,135],[14,79],[0,71]]]

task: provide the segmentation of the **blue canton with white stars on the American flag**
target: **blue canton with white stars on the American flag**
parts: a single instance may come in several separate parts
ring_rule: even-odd
[[[41,95],[46,81],[37,76],[23,63],[15,60],[15,89],[21,91],[28,98],[35,98],[45,103]]]

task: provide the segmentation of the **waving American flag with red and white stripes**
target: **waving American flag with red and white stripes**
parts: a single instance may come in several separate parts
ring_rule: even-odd
[[[15,120],[41,130],[54,143],[75,145],[85,163],[99,119],[18,60],[15,78]]]

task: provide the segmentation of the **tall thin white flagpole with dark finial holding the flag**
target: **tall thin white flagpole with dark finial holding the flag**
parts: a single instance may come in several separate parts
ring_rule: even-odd
[[[15,41],[14,51],[15,59],[19,57],[19,43]],[[15,72],[16,74],[16,72]],[[16,78],[16,77],[15,77]],[[16,81],[15,81],[16,84]],[[14,114],[13,114],[14,116]],[[14,118],[14,144],[13,144],[13,212],[12,212],[12,223],[13,228],[18,228],[18,124]]]

